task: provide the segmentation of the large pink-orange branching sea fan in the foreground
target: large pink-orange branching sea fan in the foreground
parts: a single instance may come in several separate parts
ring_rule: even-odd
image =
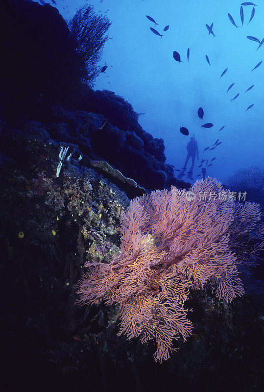
[[[231,302],[244,293],[237,266],[254,266],[264,247],[258,204],[235,201],[213,178],[191,191],[192,201],[175,187],[133,199],[121,217],[120,254],[85,263],[78,283],[80,304],[120,304],[119,335],[156,341],[155,361],[191,334],[183,306],[190,289],[211,288]]]

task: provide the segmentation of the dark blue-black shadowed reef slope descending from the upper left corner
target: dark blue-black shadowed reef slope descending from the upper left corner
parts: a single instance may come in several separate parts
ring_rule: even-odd
[[[25,135],[39,135],[40,127],[45,137],[76,144],[83,156],[107,161],[146,189],[190,187],[175,179],[163,140],[142,129],[130,103],[82,83],[84,63],[56,8],[26,0],[3,0],[1,8],[5,119]],[[37,123],[28,129],[28,121]]]

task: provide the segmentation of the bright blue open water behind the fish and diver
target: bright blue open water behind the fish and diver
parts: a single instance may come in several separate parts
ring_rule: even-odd
[[[70,18],[75,3],[79,5],[76,1],[69,4],[69,14],[61,9],[60,0],[57,5],[62,15]],[[251,70],[264,59],[264,46],[257,50],[259,44],[246,38],[256,37],[260,42],[264,38],[262,1],[254,7],[250,23],[253,6],[242,6],[243,25],[242,2],[234,0],[220,4],[217,0],[89,3],[102,14],[108,9],[104,15],[112,22],[112,39],[105,44],[102,56],[102,66],[106,63],[108,68],[96,79],[95,88],[114,91],[127,99],[136,112],[145,113],[139,123],[143,129],[151,130],[154,137],[164,139],[167,163],[178,169],[184,166],[187,143],[194,134],[200,160],[217,157],[207,173],[221,182],[240,168],[263,169],[264,63]],[[228,14],[238,28],[232,25]],[[146,19],[146,15],[158,25]],[[215,36],[206,27],[212,23]],[[166,25],[169,28],[164,31]],[[164,36],[153,34],[150,27]],[[182,63],[174,60],[173,51],[180,54]],[[245,94],[253,84],[254,88]],[[239,97],[231,101],[238,93]],[[251,104],[254,106],[245,112]],[[199,107],[204,110],[203,123],[213,123],[213,128],[201,128]],[[189,130],[189,137],[180,134],[182,126]],[[225,128],[219,134],[222,126]],[[222,145],[202,154],[218,137]],[[196,162],[194,180],[189,178],[191,183],[200,173],[197,166]]]

